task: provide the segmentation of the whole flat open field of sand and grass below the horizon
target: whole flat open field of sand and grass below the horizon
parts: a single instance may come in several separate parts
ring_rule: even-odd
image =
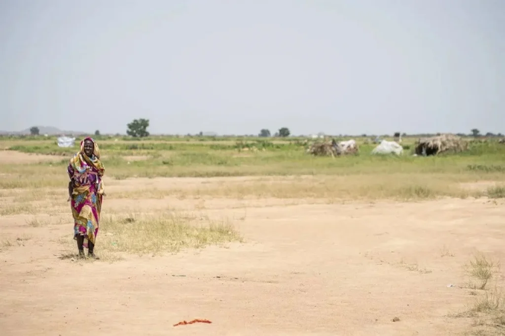
[[[505,145],[357,141],[104,138],[101,260],[79,261],[77,148],[0,138],[0,334],[505,334]]]

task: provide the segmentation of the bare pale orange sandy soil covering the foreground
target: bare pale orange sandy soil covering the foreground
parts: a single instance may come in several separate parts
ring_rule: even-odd
[[[65,248],[58,243],[72,240],[70,211],[40,214],[52,220],[38,228],[27,224],[33,215],[0,217],[0,237],[15,242],[0,252],[0,334],[461,334],[470,321],[451,314],[472,299],[462,265],[475,249],[505,261],[505,208],[487,200],[208,199],[204,210],[199,202],[106,199],[103,213],[192,208],[234,219],[246,242],[79,263],[61,259]],[[213,323],[173,326],[195,318]]]

